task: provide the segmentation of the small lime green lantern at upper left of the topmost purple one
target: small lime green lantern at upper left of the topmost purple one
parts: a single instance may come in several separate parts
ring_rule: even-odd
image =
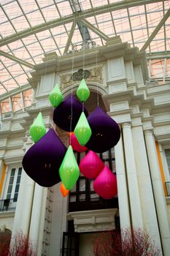
[[[63,94],[61,94],[61,89],[58,86],[58,83],[56,83],[55,87],[50,92],[49,99],[50,99],[51,105],[54,108],[57,108],[58,105],[60,105],[61,102],[63,101]]]

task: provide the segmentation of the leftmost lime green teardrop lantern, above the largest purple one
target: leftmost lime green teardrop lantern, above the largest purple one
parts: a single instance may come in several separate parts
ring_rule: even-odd
[[[38,141],[40,138],[42,138],[42,136],[45,135],[46,129],[45,129],[45,124],[44,124],[41,112],[39,112],[38,116],[34,120],[34,123],[31,124],[29,133],[31,135],[32,140],[34,140],[34,142]]]

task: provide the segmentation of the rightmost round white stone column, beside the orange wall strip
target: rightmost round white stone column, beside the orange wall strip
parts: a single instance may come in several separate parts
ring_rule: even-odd
[[[150,165],[150,175],[152,179],[152,188],[155,197],[155,206],[158,214],[158,224],[161,233],[163,255],[169,256],[169,219],[167,214],[165,195],[163,192],[163,184],[161,181],[161,173],[158,165],[158,157],[155,148],[155,139],[153,137],[152,130],[146,130],[144,132],[144,137],[147,147],[147,157]],[[150,209],[148,209],[148,211],[150,211]]]

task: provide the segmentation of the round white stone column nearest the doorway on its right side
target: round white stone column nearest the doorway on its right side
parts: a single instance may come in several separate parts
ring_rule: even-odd
[[[131,135],[131,124],[123,124],[123,142],[125,149],[125,165],[128,177],[128,192],[131,206],[131,221],[134,228],[143,228],[142,208],[139,197],[139,186],[136,176],[134,146]]]

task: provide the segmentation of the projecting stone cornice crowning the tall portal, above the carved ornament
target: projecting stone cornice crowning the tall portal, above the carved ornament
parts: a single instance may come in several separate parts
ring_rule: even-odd
[[[72,59],[74,59],[74,69],[79,69],[82,67],[83,56],[85,69],[88,69],[91,65],[96,65],[96,59],[98,64],[104,64],[109,59],[123,56],[125,57],[125,61],[133,61],[134,65],[141,64],[144,80],[148,80],[146,53],[140,53],[138,48],[130,48],[127,42],[115,43],[113,39],[101,47],[80,50],[60,57],[56,56],[52,60],[37,64],[34,66],[35,71],[31,72],[32,78],[28,78],[28,81],[34,87],[42,75],[53,72],[70,72],[72,70]]]

